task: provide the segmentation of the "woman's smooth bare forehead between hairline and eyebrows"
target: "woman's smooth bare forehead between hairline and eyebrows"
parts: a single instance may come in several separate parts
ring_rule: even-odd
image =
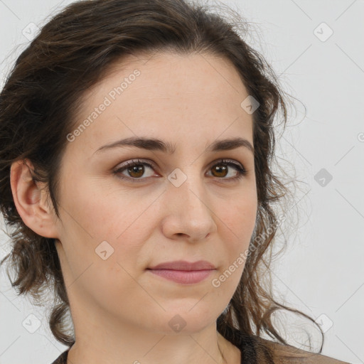
[[[252,115],[240,106],[247,96],[237,70],[223,58],[132,55],[83,95],[75,128],[89,122],[75,141],[93,151],[103,141],[136,136],[168,139],[177,149],[182,134],[204,141],[240,134],[252,143]]]

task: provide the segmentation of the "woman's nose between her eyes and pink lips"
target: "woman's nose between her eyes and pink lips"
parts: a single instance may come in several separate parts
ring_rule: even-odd
[[[169,239],[198,242],[217,230],[216,216],[200,176],[188,176],[179,187],[169,183],[164,198],[162,230]]]

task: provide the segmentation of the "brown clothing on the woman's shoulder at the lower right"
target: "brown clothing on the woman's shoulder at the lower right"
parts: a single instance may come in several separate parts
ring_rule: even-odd
[[[294,346],[275,343],[264,338],[256,338],[258,345],[269,348],[274,356],[274,363],[277,364],[350,364],[326,355],[295,348]]]

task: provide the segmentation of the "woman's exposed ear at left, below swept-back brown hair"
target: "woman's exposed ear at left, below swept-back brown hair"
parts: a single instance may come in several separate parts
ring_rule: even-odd
[[[48,203],[48,190],[33,181],[33,164],[28,159],[11,164],[10,183],[16,210],[23,223],[38,235],[58,238],[56,215]]]

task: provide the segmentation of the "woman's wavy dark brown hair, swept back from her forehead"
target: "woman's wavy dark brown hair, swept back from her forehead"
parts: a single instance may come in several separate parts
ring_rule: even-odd
[[[237,343],[237,337],[231,328],[238,328],[247,338],[267,333],[288,345],[274,328],[274,311],[289,310],[314,322],[301,311],[275,301],[270,275],[263,275],[272,260],[278,229],[274,204],[288,192],[272,171],[273,122],[280,110],[286,124],[287,107],[274,71],[243,40],[248,35],[246,24],[235,28],[237,24],[185,0],[77,1],[48,21],[16,60],[0,94],[0,205],[7,225],[14,227],[9,235],[13,250],[1,263],[9,259],[16,272],[11,284],[18,294],[30,294],[41,302],[44,291],[53,290],[49,324],[61,343],[72,346],[75,338],[65,327],[69,302],[54,239],[37,235],[18,215],[9,178],[11,164],[24,159],[33,163],[33,179],[47,183],[59,217],[58,166],[83,92],[123,56],[162,50],[230,60],[248,94],[259,102],[252,114],[257,223],[240,284],[218,317],[218,331],[232,343]],[[257,237],[259,244],[255,244]]]

